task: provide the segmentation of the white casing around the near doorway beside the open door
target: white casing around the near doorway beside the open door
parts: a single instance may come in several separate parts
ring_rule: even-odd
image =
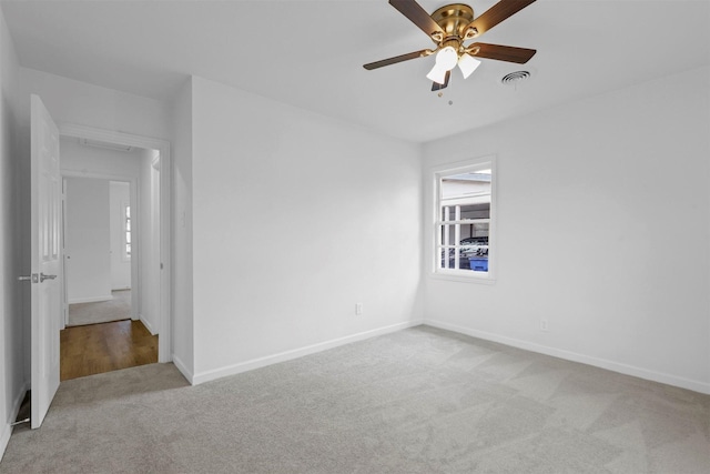
[[[59,122],[60,137],[98,140],[160,152],[160,314],[158,323],[158,362],[172,361],[172,175],[170,142],[152,137]]]

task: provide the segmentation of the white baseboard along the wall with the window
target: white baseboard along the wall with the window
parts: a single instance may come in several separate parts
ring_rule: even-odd
[[[565,359],[567,361],[579,362],[587,365],[594,365],[595,367],[606,369],[608,371],[618,372],[625,375],[631,375],[639,379],[650,380],[652,382],[665,383],[667,385],[673,385],[681,389],[692,390],[693,392],[710,394],[710,384],[679,377],[662,372],[649,371],[647,369],[637,367],[633,365],[627,365],[606,359],[594,357],[591,355],[579,354],[577,352],[565,351],[561,349],[549,347],[546,345],[536,344],[532,342],[521,341],[518,339],[506,337],[499,334],[494,334],[485,331],[478,331],[470,327],[464,327],[456,324],[449,324],[443,321],[427,320],[425,319],[423,324],[439,327],[447,331],[454,331],[460,334],[466,334],[471,337],[478,337],[486,341],[498,342],[500,344],[510,345],[513,347],[524,349],[530,352],[537,352],[540,354],[551,355],[554,357]]]

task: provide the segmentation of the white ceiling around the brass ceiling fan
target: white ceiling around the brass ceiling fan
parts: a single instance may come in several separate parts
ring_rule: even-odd
[[[476,16],[494,3],[469,2]],[[160,100],[196,74],[415,142],[710,64],[708,0],[538,0],[478,40],[537,54],[454,71],[442,98],[433,57],[363,69],[433,46],[387,0],[1,4],[27,68]],[[519,70],[531,78],[500,83]]]

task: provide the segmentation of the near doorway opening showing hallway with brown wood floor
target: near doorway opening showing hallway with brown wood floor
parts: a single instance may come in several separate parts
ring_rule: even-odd
[[[160,153],[61,137],[60,158],[60,380],[158,362]]]

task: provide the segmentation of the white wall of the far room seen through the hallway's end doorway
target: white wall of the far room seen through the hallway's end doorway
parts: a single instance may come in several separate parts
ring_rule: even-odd
[[[109,180],[65,178],[67,300],[111,300]]]

